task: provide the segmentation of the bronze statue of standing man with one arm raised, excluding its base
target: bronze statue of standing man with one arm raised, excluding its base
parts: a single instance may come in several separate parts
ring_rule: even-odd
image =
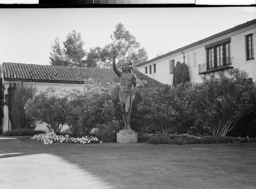
[[[136,92],[136,75],[133,74],[130,63],[123,63],[122,72],[116,68],[116,51],[113,51],[113,70],[120,78],[119,102],[123,114],[124,128],[131,130],[131,108]],[[132,90],[134,87],[134,90]]]

